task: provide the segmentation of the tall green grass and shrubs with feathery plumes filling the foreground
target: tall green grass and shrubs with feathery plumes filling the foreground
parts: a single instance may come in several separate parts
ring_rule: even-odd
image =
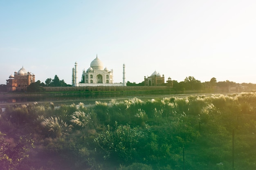
[[[253,92],[9,106],[0,131],[4,169],[231,170],[233,131],[234,169],[256,169]]]

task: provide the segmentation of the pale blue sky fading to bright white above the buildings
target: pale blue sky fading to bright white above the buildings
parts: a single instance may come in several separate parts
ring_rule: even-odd
[[[114,83],[256,83],[255,0],[0,0],[0,84],[22,66],[72,84],[98,58]]]

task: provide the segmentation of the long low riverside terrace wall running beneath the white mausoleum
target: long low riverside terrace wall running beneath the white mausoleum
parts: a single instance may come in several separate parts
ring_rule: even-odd
[[[170,86],[116,86],[116,87],[43,87],[45,92],[108,92],[168,90]]]

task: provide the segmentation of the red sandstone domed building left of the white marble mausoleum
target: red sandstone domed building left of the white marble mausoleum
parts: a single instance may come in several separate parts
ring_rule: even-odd
[[[9,79],[6,80],[7,92],[26,92],[27,86],[31,83],[35,83],[35,75],[27,72],[22,66],[18,72],[14,72],[14,75],[11,74]]]

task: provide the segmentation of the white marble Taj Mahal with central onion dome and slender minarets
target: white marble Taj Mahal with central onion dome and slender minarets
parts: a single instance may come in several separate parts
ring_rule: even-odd
[[[85,71],[83,70],[81,82],[79,82],[78,64],[72,69],[72,86],[85,87],[85,86],[126,86],[125,78],[125,64],[123,64],[123,83],[114,83],[113,69],[108,70],[104,68],[102,61],[96,55],[96,58],[91,62],[90,67]]]

